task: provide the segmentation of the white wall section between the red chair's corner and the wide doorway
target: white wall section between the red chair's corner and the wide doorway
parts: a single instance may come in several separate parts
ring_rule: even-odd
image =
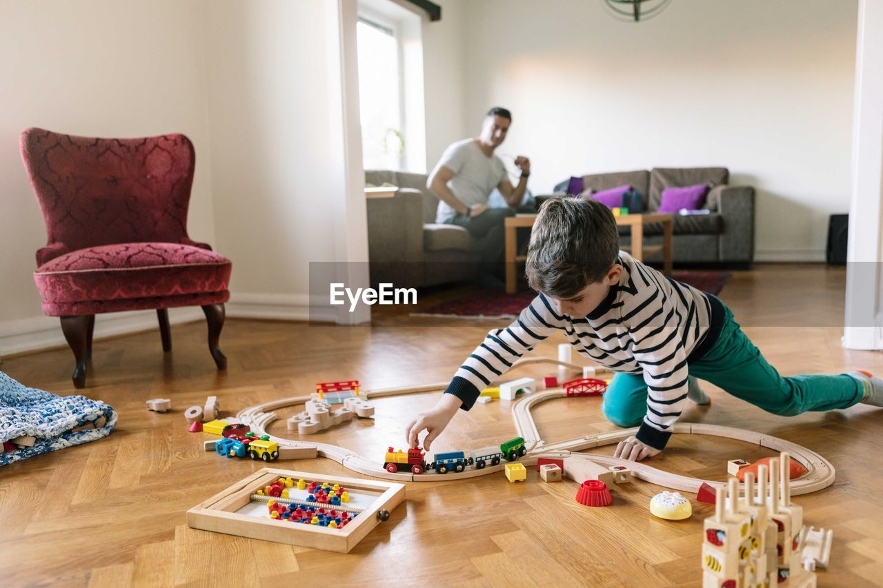
[[[230,313],[306,318],[309,262],[336,259],[332,205],[345,189],[327,6],[205,6],[215,249],[233,261]]]

